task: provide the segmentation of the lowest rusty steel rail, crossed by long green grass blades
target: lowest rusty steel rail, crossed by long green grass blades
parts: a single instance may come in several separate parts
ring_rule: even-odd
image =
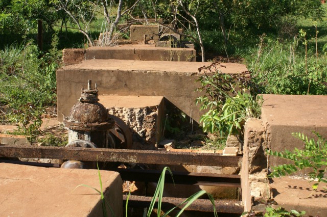
[[[124,207],[126,205],[126,200],[127,200],[127,195],[123,195],[123,206]],[[152,197],[130,195],[129,199],[128,199],[128,207],[134,207],[134,208],[149,207],[151,200],[152,200]],[[186,200],[186,198],[164,197],[164,198],[162,198],[161,209],[169,210],[175,206],[178,206],[184,200]],[[155,203],[154,207],[156,207],[156,206],[157,206],[157,202]],[[216,206],[217,212],[220,212],[220,213],[241,214],[244,211],[244,207],[243,207],[241,201],[236,201],[236,200],[215,200],[215,206]],[[180,206],[180,208],[182,208],[182,206]],[[213,204],[211,203],[211,201],[209,201],[207,199],[197,199],[185,210],[213,212],[214,207],[213,207]]]

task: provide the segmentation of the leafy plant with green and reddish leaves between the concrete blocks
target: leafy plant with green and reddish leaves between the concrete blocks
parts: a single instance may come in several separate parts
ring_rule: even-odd
[[[208,110],[201,118],[203,130],[220,135],[241,134],[247,118],[260,117],[260,103],[251,95],[255,88],[249,72],[224,74],[213,63],[199,68],[202,75],[197,91],[205,91],[197,98],[201,110]]]

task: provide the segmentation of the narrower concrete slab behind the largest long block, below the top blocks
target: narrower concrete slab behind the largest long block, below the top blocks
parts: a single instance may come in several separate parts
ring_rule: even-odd
[[[196,50],[192,48],[155,47],[154,44],[129,44],[111,47],[94,46],[85,50],[85,60],[92,59],[195,62]]]

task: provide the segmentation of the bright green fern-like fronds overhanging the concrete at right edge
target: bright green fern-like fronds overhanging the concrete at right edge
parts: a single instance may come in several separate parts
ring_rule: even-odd
[[[297,170],[311,168],[313,172],[309,173],[309,177],[318,183],[313,184],[313,189],[317,189],[320,182],[327,183],[326,168],[327,168],[327,140],[322,138],[317,132],[317,142],[314,139],[308,139],[303,133],[292,133],[295,138],[305,142],[305,149],[300,150],[295,148],[293,152],[288,150],[277,152],[267,150],[267,153],[276,157],[281,157],[293,161],[293,164],[284,164],[272,167],[270,177],[279,177],[292,174]]]

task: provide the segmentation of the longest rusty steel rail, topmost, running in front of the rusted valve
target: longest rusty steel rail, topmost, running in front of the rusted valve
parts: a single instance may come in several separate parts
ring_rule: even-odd
[[[143,164],[197,165],[238,167],[241,156],[215,153],[168,152],[104,148],[46,147],[32,145],[0,145],[0,157],[52,158],[62,160],[130,162]]]

